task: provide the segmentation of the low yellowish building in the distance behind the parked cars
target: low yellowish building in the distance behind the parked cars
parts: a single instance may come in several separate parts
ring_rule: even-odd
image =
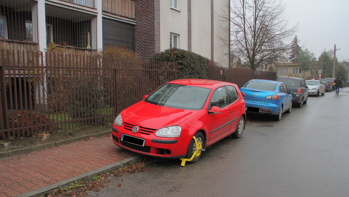
[[[298,63],[276,63],[275,69],[277,76],[311,78],[310,72],[298,68]]]

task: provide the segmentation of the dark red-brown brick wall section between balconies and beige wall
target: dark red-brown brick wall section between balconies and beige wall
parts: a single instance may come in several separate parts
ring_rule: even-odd
[[[147,59],[160,52],[160,0],[135,0],[135,52]]]

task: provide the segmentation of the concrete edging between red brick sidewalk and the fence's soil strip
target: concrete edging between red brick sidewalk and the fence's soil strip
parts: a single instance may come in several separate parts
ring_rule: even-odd
[[[36,150],[42,150],[44,148],[61,146],[61,145],[65,145],[68,143],[86,140],[86,139],[90,139],[90,138],[97,138],[99,136],[106,135],[106,134],[111,134],[111,131],[105,131],[105,132],[96,133],[96,134],[84,135],[84,136],[77,137],[77,138],[46,143],[43,145],[33,146],[33,147],[29,147],[29,148],[22,148],[22,149],[18,149],[18,150],[8,150],[7,152],[0,153],[0,159],[5,158],[5,157],[9,157],[9,156],[14,156],[14,155],[27,154],[27,153],[30,153],[30,152],[33,152]]]

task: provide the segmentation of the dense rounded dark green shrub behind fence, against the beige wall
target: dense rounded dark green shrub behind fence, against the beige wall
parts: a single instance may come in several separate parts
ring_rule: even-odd
[[[177,62],[181,70],[181,78],[206,79],[209,59],[184,49],[171,48],[157,53],[150,60]]]

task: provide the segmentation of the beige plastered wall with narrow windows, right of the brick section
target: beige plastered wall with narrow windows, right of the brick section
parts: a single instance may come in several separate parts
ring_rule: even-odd
[[[226,40],[229,35],[224,29],[229,24],[224,24],[219,15],[223,16],[229,12],[226,5],[229,0],[214,0],[214,61],[222,66],[229,66],[229,46],[225,44],[221,37]],[[225,11],[227,10],[227,12]],[[192,11],[192,52],[211,59],[211,1],[191,0]],[[223,28],[222,28],[223,27]],[[188,1],[178,0],[178,9],[170,8],[169,0],[161,0],[160,4],[160,50],[170,48],[170,33],[179,37],[178,48],[188,50]]]

